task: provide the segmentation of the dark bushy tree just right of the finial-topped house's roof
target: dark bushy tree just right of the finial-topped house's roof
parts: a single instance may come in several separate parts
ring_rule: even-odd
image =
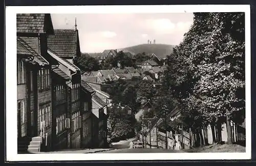
[[[95,58],[89,56],[87,53],[81,54],[81,57],[78,58],[76,65],[82,72],[99,70],[98,61]]]

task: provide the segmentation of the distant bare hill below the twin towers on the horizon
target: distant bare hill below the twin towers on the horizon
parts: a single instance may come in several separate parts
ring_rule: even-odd
[[[117,51],[131,52],[138,54],[141,52],[155,53],[159,58],[165,58],[173,52],[174,45],[167,44],[140,44],[131,47],[117,49]]]

